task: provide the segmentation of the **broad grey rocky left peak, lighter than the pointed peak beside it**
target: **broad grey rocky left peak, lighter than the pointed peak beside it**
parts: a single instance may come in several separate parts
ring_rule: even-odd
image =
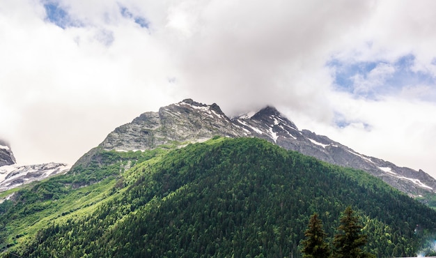
[[[214,135],[241,137],[244,133],[218,105],[183,100],[161,107],[159,112],[141,114],[132,123],[116,128],[100,146],[105,150],[146,150],[173,142],[201,142]]]

